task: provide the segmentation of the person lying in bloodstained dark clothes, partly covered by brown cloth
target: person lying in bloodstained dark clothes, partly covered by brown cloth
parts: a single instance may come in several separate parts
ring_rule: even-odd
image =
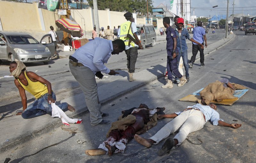
[[[107,139],[97,149],[85,150],[89,156],[124,152],[125,145],[135,134],[142,134],[157,124],[157,115],[164,114],[165,108],[149,109],[146,104],[138,108],[123,110],[118,121],[113,122],[107,133]]]

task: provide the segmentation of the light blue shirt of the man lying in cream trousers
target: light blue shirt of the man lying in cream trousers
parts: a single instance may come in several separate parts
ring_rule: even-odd
[[[188,106],[188,108],[193,108],[193,107],[203,112],[205,116],[205,121],[206,122],[211,121],[214,126],[219,124],[218,122],[219,120],[223,121],[223,119],[220,119],[220,114],[208,105],[201,105],[200,103],[197,103],[196,105]],[[175,112],[175,114],[177,115],[180,115],[180,113],[181,112]]]

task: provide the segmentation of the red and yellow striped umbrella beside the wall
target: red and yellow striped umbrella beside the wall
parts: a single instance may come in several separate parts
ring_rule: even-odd
[[[81,29],[80,25],[70,19],[62,18],[56,20],[55,23],[60,30],[71,33],[73,37],[83,36],[83,30]]]

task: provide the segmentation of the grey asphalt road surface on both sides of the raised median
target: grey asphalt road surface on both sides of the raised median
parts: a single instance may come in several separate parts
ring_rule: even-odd
[[[207,122],[203,129],[190,133],[188,139],[194,143],[199,143],[197,138],[203,141],[202,145],[193,145],[185,140],[175,150],[165,154],[162,157],[157,155],[157,151],[161,148],[164,141],[151,148],[145,148],[139,145],[135,140],[128,143],[124,153],[117,153],[109,157],[108,155],[87,156],[84,153],[86,149],[97,148],[106,138],[106,133],[110,127],[107,126],[91,126],[89,125],[89,114],[82,117],[83,124],[76,125],[77,128],[69,128],[66,131],[63,128],[57,128],[43,136],[37,137],[23,145],[1,153],[1,160],[12,158],[10,162],[182,162],[182,163],[253,163],[255,162],[255,35],[244,35],[244,32],[235,31],[235,39],[227,45],[219,48],[215,52],[205,56],[205,67],[194,66],[189,69],[190,82],[183,87],[174,85],[172,89],[163,89],[161,86],[165,83],[165,79],[160,78],[152,81],[148,85],[141,87],[129,94],[122,96],[111,104],[102,107],[104,112],[108,112],[108,119],[111,122],[116,121],[121,115],[121,110],[130,109],[145,103],[149,108],[165,107],[165,113],[170,114],[175,111],[185,109],[195,103],[180,102],[180,98],[203,88],[210,82],[219,80],[223,77],[228,78],[231,82],[243,84],[249,91],[240,98],[232,106],[218,105],[220,118],[228,123],[242,123],[242,127],[231,129],[228,127],[213,126]],[[223,38],[225,33],[216,35],[207,35],[208,44],[212,41],[218,41]],[[188,44],[191,48],[191,43]],[[166,58],[165,42],[157,42],[156,46],[149,47],[145,50],[139,50],[138,62],[136,64],[137,71],[147,69],[150,66],[163,63]],[[54,63],[53,63],[54,62]],[[65,94],[74,94],[77,89],[77,83],[69,70],[68,59],[54,60],[48,65],[31,64],[28,70],[37,71],[39,75],[44,76],[52,82],[53,90],[60,97],[65,98]],[[120,75],[109,76],[99,81],[98,84],[104,84],[118,79],[126,75],[125,53],[119,56],[112,56],[107,64],[110,69],[119,70]],[[1,65],[0,74],[5,74],[8,70],[7,65]],[[122,76],[123,75],[123,76]],[[2,76],[2,75],[1,75]],[[18,90],[15,88],[13,79],[5,78],[1,80],[1,107],[12,106],[15,102],[18,105],[20,100]],[[8,98],[7,98],[8,97]],[[31,97],[32,98],[32,97]],[[113,105],[115,104],[115,105]],[[21,105],[21,104],[20,104]],[[112,106],[113,105],[113,106]],[[18,107],[18,106],[16,106]],[[1,109],[2,109],[1,108]],[[149,138],[153,136],[161,127],[170,119],[159,120],[158,124],[148,132],[141,135]],[[66,127],[65,127],[66,128]],[[175,134],[170,135],[174,137]],[[78,144],[77,140],[86,141]],[[3,162],[2,161],[2,162]]]

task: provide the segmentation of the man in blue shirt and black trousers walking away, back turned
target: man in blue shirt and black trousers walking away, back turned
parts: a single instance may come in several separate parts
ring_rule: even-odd
[[[205,35],[205,30],[202,28],[202,22],[199,21],[197,22],[197,27],[194,28],[193,30],[193,39],[196,40],[197,42],[201,43],[204,45],[205,41],[205,47],[207,47],[207,41],[206,41],[206,35]],[[192,57],[189,62],[189,68],[193,67],[193,63],[196,60],[196,54],[200,52],[200,63],[201,67],[205,66],[204,64],[204,48],[202,48],[200,45],[193,43],[192,44]]]

